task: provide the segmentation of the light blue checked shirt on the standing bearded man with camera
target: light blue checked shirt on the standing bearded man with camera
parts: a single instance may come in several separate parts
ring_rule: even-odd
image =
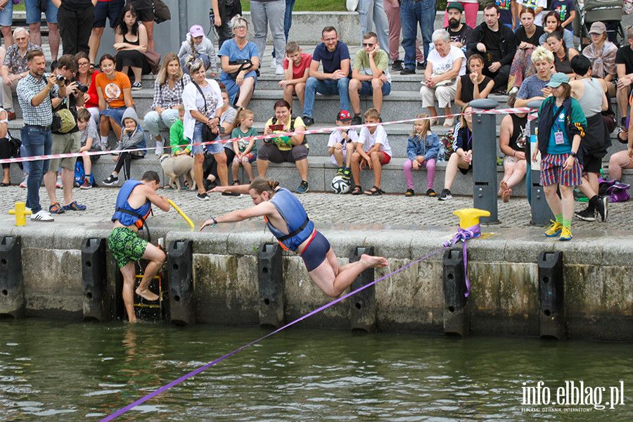
[[[34,107],[31,104],[33,97],[37,96],[37,94],[46,88],[48,81],[49,75],[46,73],[37,79],[37,77],[34,77],[31,75],[31,72],[29,72],[26,77],[20,79],[20,82],[18,82],[18,87],[15,91],[18,92],[18,102],[20,103],[20,108],[22,108],[24,124],[49,126],[53,123],[53,105],[51,98],[58,97],[58,84],[53,85],[53,89],[51,89],[49,95],[44,98],[44,101],[42,101],[39,106]]]

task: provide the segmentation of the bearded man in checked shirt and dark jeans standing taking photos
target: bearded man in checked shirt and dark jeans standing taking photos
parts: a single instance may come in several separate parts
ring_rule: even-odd
[[[64,82],[54,75],[44,75],[46,58],[41,50],[29,51],[26,55],[29,72],[18,82],[18,102],[24,117],[22,128],[22,145],[27,156],[48,155],[51,153],[53,139],[51,124],[53,123],[52,98],[64,98],[66,87]],[[52,222],[53,217],[41,209],[39,205],[39,186],[42,175],[49,170],[49,160],[30,162],[30,174],[27,181],[26,206],[32,211],[31,220]],[[72,183],[71,183],[72,184]]]

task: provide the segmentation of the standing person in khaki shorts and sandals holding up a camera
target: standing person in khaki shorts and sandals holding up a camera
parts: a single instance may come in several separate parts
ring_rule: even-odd
[[[53,98],[51,107],[53,110],[53,122],[51,132],[53,145],[52,154],[78,153],[81,148],[81,134],[77,127],[77,107],[83,106],[84,94],[77,87],[78,82],[73,77],[77,73],[77,60],[72,54],[64,54],[57,62],[57,68],[53,71],[58,83],[65,87],[65,97]],[[72,184],[75,181],[74,157],[53,158],[49,165],[49,172],[44,174],[44,186],[49,193],[51,214],[61,214],[66,211],[83,211],[86,205],[79,205],[72,200]],[[55,193],[57,171],[62,169],[61,181],[64,192],[62,203],[58,203]]]

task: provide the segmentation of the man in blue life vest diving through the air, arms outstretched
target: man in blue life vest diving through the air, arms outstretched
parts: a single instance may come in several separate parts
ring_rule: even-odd
[[[288,189],[280,188],[277,181],[257,177],[250,185],[217,186],[212,191],[224,192],[224,188],[229,187],[231,192],[248,193],[255,207],[211,217],[200,227],[200,231],[218,223],[264,217],[281,248],[298,252],[312,281],[331,298],[338,297],[350,287],[362,271],[389,264],[383,257],[364,254],[359,261],[339,267],[330,243],[314,229],[314,223],[307,217],[303,205]]]

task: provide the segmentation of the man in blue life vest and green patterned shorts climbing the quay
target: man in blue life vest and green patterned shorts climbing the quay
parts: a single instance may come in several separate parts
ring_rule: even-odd
[[[130,322],[136,322],[134,263],[141,258],[150,262],[147,264],[141,284],[136,288],[136,294],[146,300],[158,300],[158,295],[152,293],[148,286],[162,267],[162,263],[165,262],[165,252],[139,238],[139,229],[143,228],[145,219],[151,212],[152,204],[165,212],[170,210],[167,196],[156,194],[159,187],[160,179],[156,172],[146,172],[141,177],[141,181],[129,179],[120,188],[115,213],[112,216],[114,229],[108,237],[108,248],[123,274],[123,302]]]

